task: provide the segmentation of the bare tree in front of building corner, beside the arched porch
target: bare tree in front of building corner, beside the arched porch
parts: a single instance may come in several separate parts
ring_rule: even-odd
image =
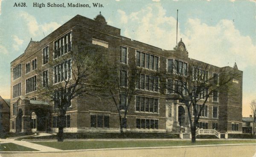
[[[72,50],[71,47],[64,47],[55,50],[54,59],[48,56],[43,58],[47,64],[38,69],[43,81],[38,84],[37,90],[41,93],[41,99],[52,102],[52,108],[58,115],[58,141],[64,140],[65,114],[71,106],[71,100],[95,93],[90,82],[101,51],[99,47],[90,45],[73,47]]]

